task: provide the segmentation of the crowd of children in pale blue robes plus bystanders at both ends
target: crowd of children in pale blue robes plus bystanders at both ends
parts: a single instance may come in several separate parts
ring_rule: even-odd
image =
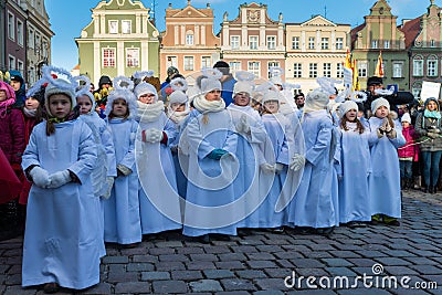
[[[435,98],[414,129],[411,112],[398,118],[383,98],[367,119],[351,99],[332,107],[336,88],[324,83],[299,110],[283,84],[259,86],[246,72],[236,73],[229,106],[218,69],[191,88],[172,78],[165,102],[151,72],[103,78],[105,97],[85,76],[43,73],[21,109],[0,81],[0,147],[27,206],[23,286],[95,285],[105,243],[131,247],[170,230],[208,243],[244,229],[399,225],[401,188],[413,187],[420,152],[424,191],[436,191]]]

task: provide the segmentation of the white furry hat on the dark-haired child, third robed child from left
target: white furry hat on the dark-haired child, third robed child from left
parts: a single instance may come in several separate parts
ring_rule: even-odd
[[[138,108],[137,98],[133,93],[134,82],[130,81],[128,77],[117,76],[114,78],[113,85],[114,89],[107,96],[106,110],[105,110],[106,116],[108,116],[113,110],[114,102],[116,99],[124,99],[126,101],[127,108],[129,110],[128,118],[134,118],[137,115],[137,108]]]

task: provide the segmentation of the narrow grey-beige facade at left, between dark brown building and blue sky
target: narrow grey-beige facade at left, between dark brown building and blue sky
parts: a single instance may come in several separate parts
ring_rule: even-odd
[[[29,85],[42,75],[43,65],[51,64],[51,30],[44,1],[27,0],[27,64],[25,74]]]

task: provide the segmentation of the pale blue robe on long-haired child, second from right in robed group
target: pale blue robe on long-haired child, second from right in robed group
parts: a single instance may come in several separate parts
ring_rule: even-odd
[[[370,221],[371,208],[368,176],[371,173],[369,129],[362,134],[356,123],[347,123],[347,131],[339,128],[343,180],[339,181],[339,221]]]

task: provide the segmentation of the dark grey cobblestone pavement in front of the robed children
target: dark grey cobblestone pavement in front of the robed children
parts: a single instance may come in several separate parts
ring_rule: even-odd
[[[0,294],[43,294],[20,286],[21,246],[22,238],[0,243]],[[168,233],[108,246],[101,280],[76,294],[442,294],[442,194],[406,192],[399,228],[341,226],[330,238],[253,231],[210,244]]]

